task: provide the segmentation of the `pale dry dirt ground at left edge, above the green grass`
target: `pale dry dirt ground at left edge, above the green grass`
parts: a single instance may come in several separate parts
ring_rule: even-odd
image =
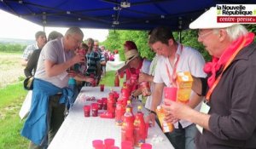
[[[0,53],[0,88],[25,78],[20,60],[21,54]]]

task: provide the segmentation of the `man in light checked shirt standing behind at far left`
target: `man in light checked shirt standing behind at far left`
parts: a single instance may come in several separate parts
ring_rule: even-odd
[[[30,59],[32,52],[35,49],[42,49],[44,47],[44,44],[46,43],[46,35],[45,32],[39,31],[35,34],[36,42],[34,44],[26,46],[26,49],[24,49],[22,60],[21,60],[21,66],[26,66],[27,61]]]

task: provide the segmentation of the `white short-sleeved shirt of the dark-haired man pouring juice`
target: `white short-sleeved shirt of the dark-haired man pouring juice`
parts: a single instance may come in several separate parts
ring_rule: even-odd
[[[182,49],[183,47],[183,49]],[[179,60],[177,62],[176,72],[190,72],[192,76],[195,77],[206,77],[207,74],[203,72],[203,67],[205,65],[205,60],[202,55],[195,49],[190,47],[181,46],[178,44],[176,55],[179,55]],[[177,61],[177,56],[175,62]],[[154,83],[165,83],[167,87],[171,87],[171,82],[169,80],[166,65],[169,68],[169,72],[172,76],[172,66],[168,60],[168,57],[159,56],[158,62],[155,68]],[[195,94],[193,91],[191,93]],[[161,97],[160,97],[161,98]],[[201,104],[195,107],[195,110],[199,111]],[[183,128],[189,126],[191,123],[188,121],[179,121]],[[178,123],[174,123],[174,127],[178,128]]]

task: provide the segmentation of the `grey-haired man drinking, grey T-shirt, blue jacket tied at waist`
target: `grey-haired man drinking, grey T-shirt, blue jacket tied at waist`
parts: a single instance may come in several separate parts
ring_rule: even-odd
[[[84,56],[73,55],[82,43],[84,33],[71,27],[62,38],[46,43],[38,60],[33,81],[32,106],[21,130],[21,135],[31,140],[29,148],[47,148],[64,121],[65,107],[73,97],[67,88],[67,69],[84,61]]]

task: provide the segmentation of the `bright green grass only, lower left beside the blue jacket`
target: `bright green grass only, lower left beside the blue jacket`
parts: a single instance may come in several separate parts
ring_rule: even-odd
[[[18,112],[26,96],[22,83],[14,83],[0,89],[0,148],[27,148],[28,140],[20,136],[24,122],[20,122]]]

